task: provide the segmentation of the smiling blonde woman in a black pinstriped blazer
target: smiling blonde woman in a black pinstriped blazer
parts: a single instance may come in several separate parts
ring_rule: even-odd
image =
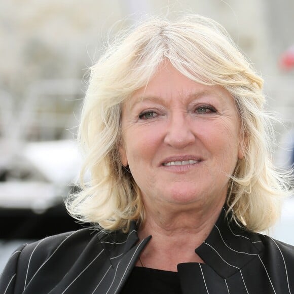
[[[97,229],[22,246],[2,292],[294,292],[294,248],[257,233],[289,194],[262,79],[205,17],[152,18],[116,40],[92,67],[82,191],[67,202]]]

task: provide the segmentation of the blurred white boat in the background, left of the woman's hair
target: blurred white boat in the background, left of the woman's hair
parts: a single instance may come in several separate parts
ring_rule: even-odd
[[[46,210],[67,196],[80,165],[73,141],[27,142],[17,160],[1,166],[0,207]]]

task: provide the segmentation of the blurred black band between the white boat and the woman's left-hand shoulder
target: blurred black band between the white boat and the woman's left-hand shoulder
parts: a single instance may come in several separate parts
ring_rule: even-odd
[[[78,224],[60,203],[38,214],[31,209],[0,208],[0,239],[42,239],[67,231],[79,230],[88,224]]]

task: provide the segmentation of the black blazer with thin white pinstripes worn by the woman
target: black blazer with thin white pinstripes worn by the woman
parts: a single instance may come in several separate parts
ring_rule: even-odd
[[[0,293],[119,293],[150,238],[138,242],[132,224],[128,234],[82,229],[23,245]],[[195,251],[205,264],[178,265],[183,294],[294,294],[294,247],[229,223],[225,211]]]

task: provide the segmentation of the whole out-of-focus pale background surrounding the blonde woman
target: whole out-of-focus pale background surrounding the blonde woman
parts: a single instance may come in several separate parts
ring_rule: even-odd
[[[231,34],[262,73],[275,125],[277,166],[294,160],[294,2],[292,0],[3,0],[0,3],[0,271],[24,242],[81,228],[63,199],[81,164],[76,126],[87,69],[106,36],[146,14],[193,12]],[[123,19],[123,21],[121,21]],[[294,244],[288,199],[270,233]]]

